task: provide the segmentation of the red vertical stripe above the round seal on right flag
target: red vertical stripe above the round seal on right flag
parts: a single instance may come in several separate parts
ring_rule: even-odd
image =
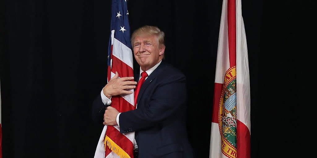
[[[230,67],[236,66],[236,1],[228,0],[228,43]]]

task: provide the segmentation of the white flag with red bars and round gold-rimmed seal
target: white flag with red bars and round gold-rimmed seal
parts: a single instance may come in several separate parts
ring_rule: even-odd
[[[250,158],[250,84],[241,0],[223,0],[210,158]]]

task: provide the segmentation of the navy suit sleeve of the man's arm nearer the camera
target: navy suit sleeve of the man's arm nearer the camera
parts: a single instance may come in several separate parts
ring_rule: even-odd
[[[143,108],[120,114],[120,133],[139,131],[167,119],[179,108],[185,108],[186,93],[185,76],[169,76]]]

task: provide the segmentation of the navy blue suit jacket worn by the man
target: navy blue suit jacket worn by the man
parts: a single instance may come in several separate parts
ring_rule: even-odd
[[[100,102],[103,104],[101,97],[94,104]],[[187,138],[186,103],[184,74],[162,61],[143,83],[137,109],[122,112],[119,117],[121,133],[135,131],[139,158],[194,157]],[[96,115],[100,108],[94,107]]]

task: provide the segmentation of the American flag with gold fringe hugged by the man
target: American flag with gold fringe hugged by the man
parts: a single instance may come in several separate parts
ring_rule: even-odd
[[[133,57],[130,41],[130,26],[126,0],[112,0],[111,36],[108,47],[109,81],[119,77],[133,76]],[[133,89],[131,91],[134,91]],[[119,112],[134,109],[134,94],[113,96],[111,106]],[[119,126],[105,126],[97,145],[94,158],[133,158],[134,132],[121,134]]]

